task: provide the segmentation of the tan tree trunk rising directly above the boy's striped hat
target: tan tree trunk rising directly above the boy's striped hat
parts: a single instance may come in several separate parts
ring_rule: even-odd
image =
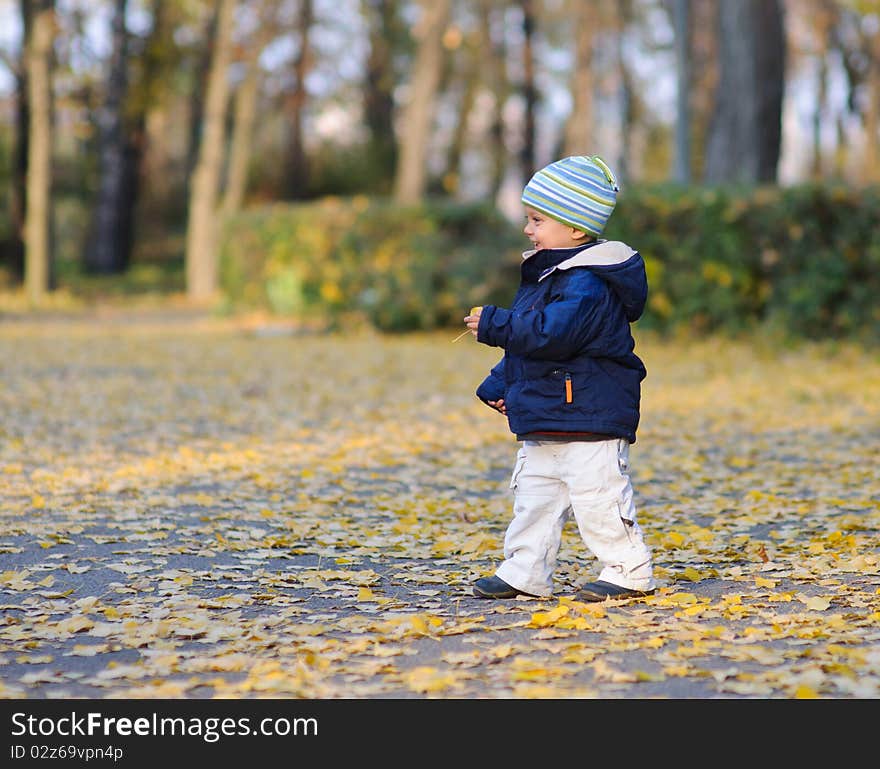
[[[591,17],[595,10],[581,0],[571,0],[574,6],[575,53],[571,82],[571,114],[565,124],[562,154],[590,155],[593,152],[593,34]]]

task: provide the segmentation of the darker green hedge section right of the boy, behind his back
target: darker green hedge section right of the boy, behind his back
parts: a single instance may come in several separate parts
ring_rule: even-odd
[[[648,266],[644,323],[880,338],[880,189],[634,190],[607,236]]]

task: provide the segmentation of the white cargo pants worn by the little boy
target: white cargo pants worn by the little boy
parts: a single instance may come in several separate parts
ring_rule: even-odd
[[[653,590],[651,552],[636,523],[629,443],[523,443],[510,480],[513,520],[496,575],[539,596],[553,592],[562,527],[574,515],[584,544],[602,566],[599,579]]]

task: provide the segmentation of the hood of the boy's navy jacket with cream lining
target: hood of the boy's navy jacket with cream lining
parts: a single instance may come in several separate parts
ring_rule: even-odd
[[[562,260],[544,270],[539,280],[543,280],[556,270],[586,267],[608,284],[623,304],[630,323],[642,316],[648,299],[648,279],[645,274],[645,262],[638,251],[618,240],[600,240],[576,251],[560,250],[565,252]],[[534,253],[527,251],[523,254],[523,258],[527,259]],[[569,256],[569,253],[572,255]]]

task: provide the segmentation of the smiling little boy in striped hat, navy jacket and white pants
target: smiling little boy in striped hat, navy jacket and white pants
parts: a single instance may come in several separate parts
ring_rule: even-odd
[[[523,231],[534,248],[523,254],[513,304],[485,305],[464,319],[477,341],[504,350],[476,394],[522,441],[505,560],[494,576],[476,580],[478,598],[551,595],[569,515],[602,566],[578,599],[655,590],[628,475],[646,375],[630,324],[642,314],[648,283],[638,252],[600,239],[617,192],[595,155],[538,171],[522,194]]]

